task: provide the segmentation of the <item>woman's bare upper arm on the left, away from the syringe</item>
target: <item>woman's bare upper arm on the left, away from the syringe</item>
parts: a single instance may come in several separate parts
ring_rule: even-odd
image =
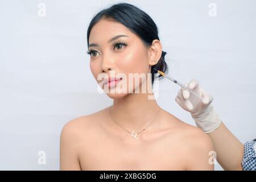
[[[60,170],[81,170],[78,148],[79,127],[74,119],[66,123],[60,134]]]

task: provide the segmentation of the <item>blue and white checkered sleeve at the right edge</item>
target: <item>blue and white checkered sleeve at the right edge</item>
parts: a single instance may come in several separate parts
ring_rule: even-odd
[[[242,166],[244,171],[256,171],[256,151],[254,149],[256,139],[246,142],[243,153]]]

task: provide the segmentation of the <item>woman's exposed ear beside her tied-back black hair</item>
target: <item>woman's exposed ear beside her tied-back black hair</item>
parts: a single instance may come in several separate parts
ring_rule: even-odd
[[[158,39],[153,40],[152,45],[148,48],[149,65],[155,65],[158,63],[162,56],[162,44]]]

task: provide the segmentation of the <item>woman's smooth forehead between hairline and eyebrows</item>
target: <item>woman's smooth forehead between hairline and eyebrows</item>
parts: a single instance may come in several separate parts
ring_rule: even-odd
[[[94,24],[90,31],[89,43],[106,43],[110,38],[120,34],[127,35],[129,38],[135,38],[135,34],[133,34],[133,32],[123,24],[101,19],[99,22]]]

